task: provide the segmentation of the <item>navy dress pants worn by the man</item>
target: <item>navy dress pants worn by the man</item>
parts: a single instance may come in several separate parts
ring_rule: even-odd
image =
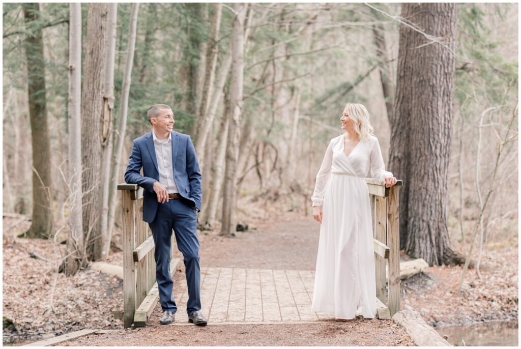
[[[156,217],[148,224],[155,244],[156,280],[159,301],[163,311],[176,313],[173,300],[173,281],[170,275],[170,248],[172,229],[176,234],[177,247],[183,254],[188,285],[187,313],[201,310],[201,269],[199,267],[199,239],[197,238],[197,212],[195,206],[183,199],[170,199],[158,203]]]

